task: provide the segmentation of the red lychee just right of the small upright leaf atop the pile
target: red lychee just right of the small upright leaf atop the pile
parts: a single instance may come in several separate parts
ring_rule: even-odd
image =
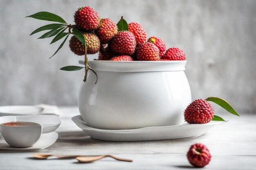
[[[136,22],[131,22],[128,24],[129,31],[135,36],[137,44],[143,44],[147,42],[147,33],[143,29],[142,25]]]

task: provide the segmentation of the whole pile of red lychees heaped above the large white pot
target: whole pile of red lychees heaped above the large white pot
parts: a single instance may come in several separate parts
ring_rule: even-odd
[[[91,7],[79,8],[74,22],[83,33],[86,53],[99,52],[97,60],[111,61],[167,61],[186,60],[185,53],[176,47],[166,51],[161,38],[147,38],[141,24],[131,22],[127,30],[119,30],[110,18],[102,19]],[[75,36],[70,39],[70,49],[76,55],[85,55],[85,46]]]

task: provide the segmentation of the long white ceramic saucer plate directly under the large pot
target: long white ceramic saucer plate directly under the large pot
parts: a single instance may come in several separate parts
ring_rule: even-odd
[[[104,130],[88,126],[81,115],[72,117],[72,121],[93,139],[104,141],[151,141],[198,137],[222,121],[207,124],[182,124],[175,126],[146,127],[129,130]]]

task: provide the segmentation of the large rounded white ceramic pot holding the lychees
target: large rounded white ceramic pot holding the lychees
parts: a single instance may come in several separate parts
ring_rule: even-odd
[[[93,128],[134,129],[184,123],[191,103],[186,61],[89,61],[79,92],[79,111]]]

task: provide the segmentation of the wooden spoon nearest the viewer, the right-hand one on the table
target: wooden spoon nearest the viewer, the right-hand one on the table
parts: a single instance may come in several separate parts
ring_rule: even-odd
[[[91,162],[98,161],[105,157],[112,157],[118,161],[132,162],[132,159],[119,158],[119,157],[115,157],[114,155],[100,155],[100,156],[94,156],[94,157],[76,157],[76,159],[81,163],[91,163]]]

